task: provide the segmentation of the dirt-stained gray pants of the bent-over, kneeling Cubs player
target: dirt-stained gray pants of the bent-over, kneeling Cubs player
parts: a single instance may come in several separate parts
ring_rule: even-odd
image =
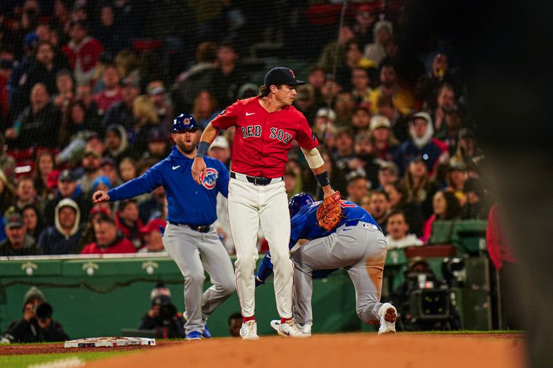
[[[344,268],[355,286],[357,316],[365,323],[379,322],[386,251],[386,238],[382,232],[366,222],[340,226],[335,233],[300,246],[292,254],[294,320],[301,325],[312,324],[313,271]]]

